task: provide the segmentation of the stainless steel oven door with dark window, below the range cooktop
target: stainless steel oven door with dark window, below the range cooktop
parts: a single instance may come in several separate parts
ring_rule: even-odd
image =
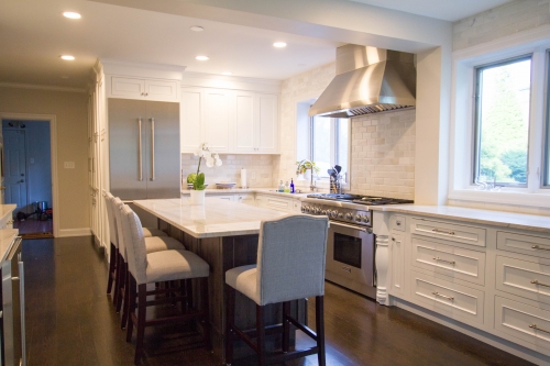
[[[330,222],[326,278],[375,298],[374,234],[371,229]]]

